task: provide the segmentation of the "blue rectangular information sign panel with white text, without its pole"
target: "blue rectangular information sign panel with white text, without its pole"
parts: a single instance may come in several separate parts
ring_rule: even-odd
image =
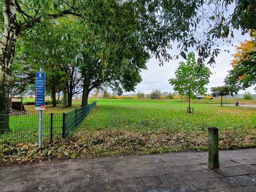
[[[45,72],[35,72],[35,110],[45,109]]]

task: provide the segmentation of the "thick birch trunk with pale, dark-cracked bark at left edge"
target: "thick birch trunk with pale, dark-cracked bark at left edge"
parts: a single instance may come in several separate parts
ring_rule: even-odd
[[[0,114],[9,114],[11,66],[20,31],[14,0],[3,1],[3,16],[4,32],[0,42]],[[0,121],[0,134],[10,130],[8,115],[2,115]]]

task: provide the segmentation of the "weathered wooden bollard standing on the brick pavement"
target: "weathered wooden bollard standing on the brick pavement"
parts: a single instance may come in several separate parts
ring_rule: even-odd
[[[208,128],[208,167],[219,168],[219,133],[217,128]]]

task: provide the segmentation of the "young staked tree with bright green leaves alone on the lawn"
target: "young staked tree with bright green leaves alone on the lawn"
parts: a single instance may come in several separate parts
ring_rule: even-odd
[[[170,84],[174,85],[174,91],[178,91],[181,95],[188,95],[189,113],[191,113],[190,98],[197,93],[205,94],[207,88],[204,85],[209,83],[212,73],[203,63],[199,66],[196,63],[195,54],[190,52],[187,63],[180,62],[174,74],[176,74],[175,78],[169,79]]]

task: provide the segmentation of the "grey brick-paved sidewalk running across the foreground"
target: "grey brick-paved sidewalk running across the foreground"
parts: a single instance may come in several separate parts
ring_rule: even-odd
[[[0,167],[0,191],[256,192],[256,148],[219,151],[219,159],[215,171],[207,151]]]

